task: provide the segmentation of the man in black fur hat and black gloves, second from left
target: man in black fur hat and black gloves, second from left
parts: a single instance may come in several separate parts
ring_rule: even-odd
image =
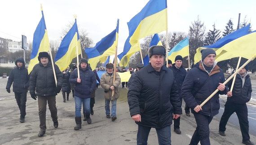
[[[56,95],[62,89],[62,72],[56,64],[52,64],[51,58],[47,52],[40,52],[38,56],[39,63],[31,71],[30,77],[30,95],[36,100],[38,98],[38,114],[40,120],[39,137],[44,136],[46,131],[46,105],[48,102],[49,110],[53,120],[53,126],[58,127],[58,116],[56,108]],[[53,66],[57,78],[57,85],[54,79]],[[36,92],[36,94],[35,94]]]

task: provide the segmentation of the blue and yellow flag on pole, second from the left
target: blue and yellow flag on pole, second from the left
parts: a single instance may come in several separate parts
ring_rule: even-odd
[[[55,56],[55,64],[61,71],[66,70],[72,59],[77,56],[76,46],[78,47],[78,54],[81,54],[81,44],[75,18],[74,25],[63,38]]]

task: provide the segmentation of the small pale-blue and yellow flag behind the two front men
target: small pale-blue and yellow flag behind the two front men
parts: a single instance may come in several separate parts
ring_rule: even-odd
[[[184,40],[181,40],[177,45],[175,45],[172,50],[168,53],[168,59],[175,62],[175,57],[180,55],[182,58],[189,56],[189,36]]]

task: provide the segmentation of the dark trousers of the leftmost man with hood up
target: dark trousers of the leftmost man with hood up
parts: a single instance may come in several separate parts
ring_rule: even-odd
[[[20,117],[24,118],[26,115],[26,92],[14,92],[14,94],[20,109]]]

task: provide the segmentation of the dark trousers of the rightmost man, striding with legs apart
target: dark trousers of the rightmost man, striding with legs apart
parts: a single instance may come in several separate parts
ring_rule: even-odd
[[[223,115],[221,116],[219,131],[225,132],[226,124],[228,123],[230,116],[234,112],[236,112],[239,120],[243,141],[250,141],[248,109],[246,104],[235,104],[227,101],[225,104],[225,110],[223,112]]]

